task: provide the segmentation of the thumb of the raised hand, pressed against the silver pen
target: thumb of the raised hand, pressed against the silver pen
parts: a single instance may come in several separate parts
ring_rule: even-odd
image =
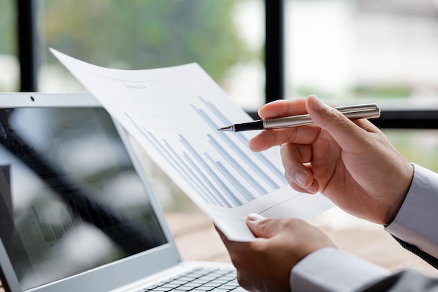
[[[321,102],[315,95],[309,96],[306,100],[306,109],[313,122],[321,129],[326,130],[341,148],[354,150],[363,145],[364,129],[353,123],[340,111]]]

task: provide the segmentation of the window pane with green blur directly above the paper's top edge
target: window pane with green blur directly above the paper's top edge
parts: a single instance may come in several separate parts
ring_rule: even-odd
[[[263,103],[260,0],[45,0],[40,11],[47,56],[41,91],[83,90],[48,52],[53,47],[118,69],[197,62],[241,106]]]

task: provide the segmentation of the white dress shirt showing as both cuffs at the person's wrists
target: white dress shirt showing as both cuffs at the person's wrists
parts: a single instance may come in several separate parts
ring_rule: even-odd
[[[438,174],[414,165],[409,192],[385,230],[438,258]],[[433,228],[433,230],[431,230]],[[290,272],[293,292],[354,292],[390,272],[336,248],[315,251]]]

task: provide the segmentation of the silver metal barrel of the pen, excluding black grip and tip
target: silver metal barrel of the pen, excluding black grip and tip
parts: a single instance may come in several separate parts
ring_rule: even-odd
[[[337,109],[347,118],[379,118],[380,109],[377,104],[360,104],[355,106],[338,106]],[[314,125],[313,120],[308,114],[290,116],[284,118],[271,118],[264,121],[264,129],[281,129],[285,127],[298,127],[304,125]]]

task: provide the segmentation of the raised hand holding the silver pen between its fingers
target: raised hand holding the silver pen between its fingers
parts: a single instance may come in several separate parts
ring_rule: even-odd
[[[349,120],[339,111],[307,99],[262,106],[262,118],[309,113],[316,125],[264,130],[250,141],[253,151],[281,145],[290,186],[320,192],[349,213],[388,224],[409,190],[413,167],[369,120]]]

